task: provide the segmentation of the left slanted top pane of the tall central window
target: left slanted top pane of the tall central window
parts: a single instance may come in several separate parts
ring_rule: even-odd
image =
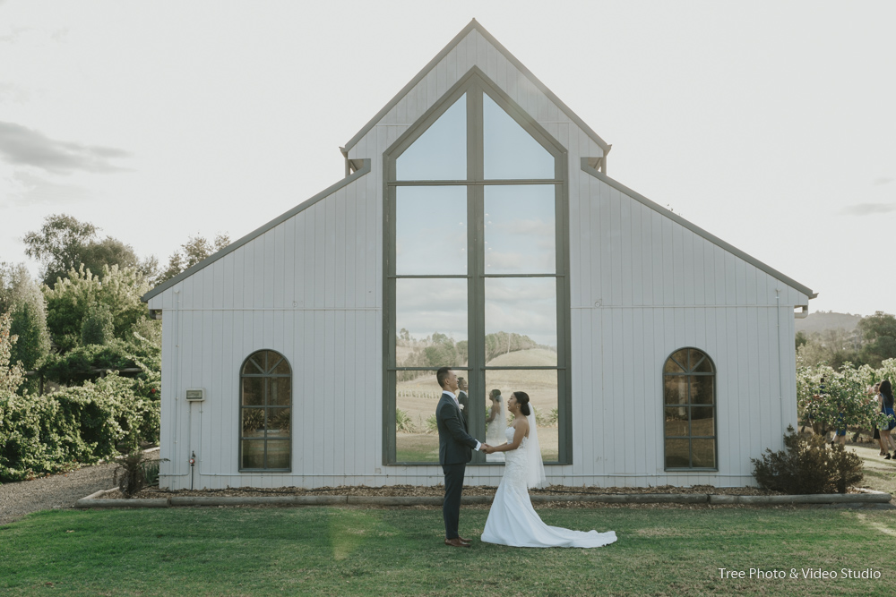
[[[395,176],[398,180],[467,178],[466,94],[395,160]]]

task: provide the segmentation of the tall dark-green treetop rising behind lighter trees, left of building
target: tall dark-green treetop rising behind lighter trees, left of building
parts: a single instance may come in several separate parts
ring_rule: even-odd
[[[44,219],[40,230],[26,234],[22,242],[25,254],[41,264],[43,282],[50,287],[73,269],[81,269],[82,264],[100,277],[105,266],[114,265],[135,269],[144,277],[157,275],[159,263],[155,257],[139,260],[134,247],[111,236],[99,238],[99,230],[90,222],[54,214]]]

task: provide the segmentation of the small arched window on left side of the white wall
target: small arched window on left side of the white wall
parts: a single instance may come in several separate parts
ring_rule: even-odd
[[[292,370],[282,354],[250,354],[239,372],[239,470],[292,465]]]

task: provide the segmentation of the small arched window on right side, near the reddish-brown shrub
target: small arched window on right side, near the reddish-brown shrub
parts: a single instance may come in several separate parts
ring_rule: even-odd
[[[717,470],[716,368],[696,348],[672,353],[663,365],[666,470]]]

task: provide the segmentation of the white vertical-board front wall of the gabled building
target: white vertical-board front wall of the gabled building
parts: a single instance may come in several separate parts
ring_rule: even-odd
[[[793,309],[808,296],[583,171],[605,144],[491,39],[471,24],[349,143],[367,174],[150,298],[163,312],[162,486],[443,482],[438,465],[383,465],[383,151],[473,66],[567,150],[573,465],[548,480],[737,486],[753,482],[751,456],[780,448],[796,423]],[[661,370],[685,346],[716,366],[718,473],[663,470]],[[293,371],[291,473],[237,471],[239,369],[261,349]],[[206,400],[186,403],[186,388]],[[466,482],[502,472],[470,466]]]

